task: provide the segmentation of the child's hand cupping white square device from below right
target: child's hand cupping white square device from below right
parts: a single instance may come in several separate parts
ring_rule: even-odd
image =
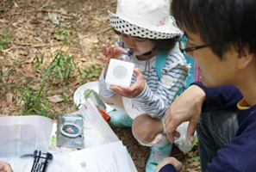
[[[139,68],[135,68],[134,73],[137,77],[136,82],[133,85],[128,88],[111,85],[110,89],[113,90],[117,95],[122,95],[124,97],[134,98],[140,95],[145,89],[146,83]]]

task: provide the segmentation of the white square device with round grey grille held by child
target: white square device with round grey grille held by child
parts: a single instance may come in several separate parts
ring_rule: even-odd
[[[105,81],[112,85],[129,87],[133,77],[133,72],[133,63],[111,58]]]

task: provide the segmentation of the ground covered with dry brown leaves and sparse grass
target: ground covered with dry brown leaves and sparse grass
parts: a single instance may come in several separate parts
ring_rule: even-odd
[[[41,114],[54,119],[57,113],[77,111],[72,99],[75,90],[97,81],[103,69],[97,61],[103,55],[101,46],[117,39],[107,10],[116,11],[115,0],[2,0],[0,114]],[[54,58],[62,61],[48,72]],[[58,68],[58,63],[64,68]],[[65,69],[72,72],[63,79],[60,73],[66,74]],[[145,171],[150,148],[134,139],[131,128],[112,129],[127,146],[138,171]],[[197,144],[186,155],[174,146],[172,156],[184,163],[182,171],[200,171]]]

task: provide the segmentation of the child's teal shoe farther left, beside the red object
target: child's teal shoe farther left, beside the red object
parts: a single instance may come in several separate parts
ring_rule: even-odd
[[[126,113],[113,110],[109,112],[109,116],[111,118],[109,121],[109,124],[111,126],[122,128],[122,127],[131,127],[133,125],[134,120],[131,119]]]

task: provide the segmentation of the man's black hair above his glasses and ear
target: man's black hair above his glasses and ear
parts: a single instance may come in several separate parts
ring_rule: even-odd
[[[256,52],[256,0],[172,0],[172,15],[220,58],[231,46]]]

